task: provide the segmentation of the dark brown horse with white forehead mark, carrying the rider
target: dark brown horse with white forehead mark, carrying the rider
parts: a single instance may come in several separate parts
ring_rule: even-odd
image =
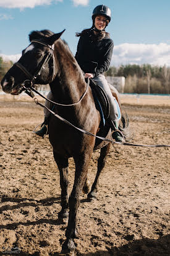
[[[7,71],[1,81],[2,89],[6,93],[18,95],[27,84],[30,86],[49,84],[54,101],[61,105],[69,105],[57,105],[54,112],[74,126],[88,130],[94,135],[99,134],[102,130],[100,112],[96,109],[91,88],[87,87],[83,71],[67,43],[61,39],[63,32],[64,30],[54,34],[50,30],[32,31],[29,34],[30,45],[22,51],[19,61]],[[117,98],[117,95],[115,96]],[[117,101],[120,105],[119,98]],[[107,124],[104,128],[106,137],[112,139],[111,129]],[[122,115],[119,129],[124,135],[128,134],[128,126],[127,119]],[[68,221],[62,252],[74,255],[76,249],[74,239],[79,236],[77,211],[80,193],[82,190],[87,193],[88,201],[95,199],[98,179],[104,168],[111,142],[77,131],[53,115],[49,119],[48,134],[49,142],[53,146],[54,160],[60,173],[61,211],[58,217],[62,221]],[[100,149],[100,157],[96,178],[90,190],[87,173],[91,154],[95,149]],[[73,157],[75,162],[75,178],[69,196],[68,160],[70,157]]]

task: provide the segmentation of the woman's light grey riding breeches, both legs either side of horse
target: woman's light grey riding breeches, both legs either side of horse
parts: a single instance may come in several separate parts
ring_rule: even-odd
[[[108,96],[109,104],[110,104],[109,119],[111,119],[111,121],[117,121],[118,111],[117,111],[116,98],[114,98],[113,94],[111,93],[111,89],[109,88],[108,81],[106,80],[105,76],[98,75],[92,80],[98,83],[98,85],[104,89],[106,95]],[[47,98],[53,100],[53,95],[51,91],[49,91]],[[49,101],[46,101],[45,106],[50,109],[51,103],[49,103]],[[50,115],[50,112],[47,109],[44,109],[44,113],[45,113],[45,117],[48,117]]]

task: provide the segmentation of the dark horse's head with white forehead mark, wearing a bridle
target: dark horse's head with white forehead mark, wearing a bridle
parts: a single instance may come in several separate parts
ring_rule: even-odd
[[[20,94],[32,85],[51,83],[54,78],[54,43],[62,33],[54,34],[50,30],[33,31],[30,35],[30,45],[22,51],[17,63],[7,71],[1,81],[5,93]]]

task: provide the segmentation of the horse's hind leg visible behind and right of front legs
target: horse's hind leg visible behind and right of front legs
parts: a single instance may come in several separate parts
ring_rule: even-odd
[[[111,143],[107,144],[103,148],[101,148],[100,151],[100,157],[98,158],[98,171],[96,173],[96,178],[91,186],[91,191],[88,193],[87,198],[91,201],[96,198],[96,192],[98,191],[98,180],[101,174],[101,171],[104,168],[105,162],[106,162],[106,156],[108,155],[109,149],[110,149]]]

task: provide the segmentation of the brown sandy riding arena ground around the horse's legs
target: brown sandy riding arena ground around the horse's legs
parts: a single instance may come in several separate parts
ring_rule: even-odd
[[[48,136],[32,130],[43,110],[32,101],[0,96],[0,255],[59,255],[66,225],[60,211],[59,171]],[[134,143],[170,144],[170,106],[145,103],[124,108]],[[132,101],[130,102],[132,103]],[[98,199],[79,208],[78,256],[170,255],[169,148],[111,146],[100,178]],[[89,167],[95,178],[99,151]],[[70,190],[74,162],[70,159]]]

